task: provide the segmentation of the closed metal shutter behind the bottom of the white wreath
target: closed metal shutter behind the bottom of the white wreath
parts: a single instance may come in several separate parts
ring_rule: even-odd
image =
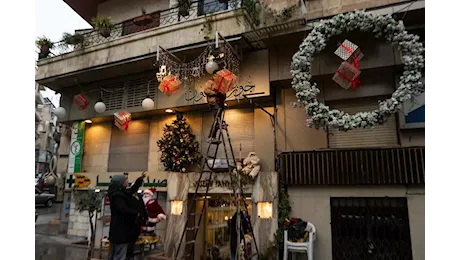
[[[340,101],[331,108],[339,109],[349,114],[372,111],[378,108],[377,100],[346,100]],[[394,147],[398,144],[398,132],[396,116],[388,118],[388,121],[373,129],[353,129],[341,132],[337,129],[329,130],[330,148],[355,148],[355,147]]]

